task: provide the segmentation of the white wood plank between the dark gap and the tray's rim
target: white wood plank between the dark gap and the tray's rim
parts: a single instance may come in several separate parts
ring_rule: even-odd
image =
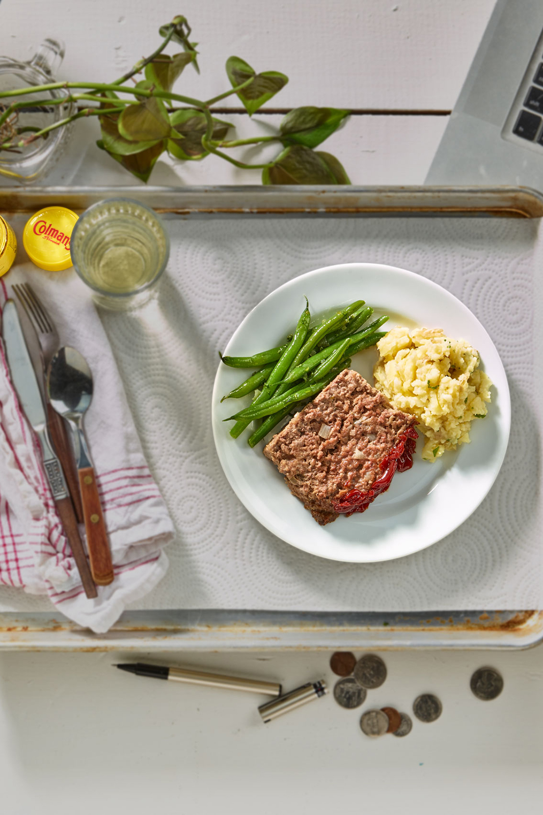
[[[270,134],[279,125],[278,115],[249,117],[235,113],[223,117],[236,128],[239,138]],[[438,116],[353,116],[322,144],[338,156],[353,184],[422,184],[432,156],[447,124]],[[66,156],[46,178],[47,184],[141,185],[117,161],[99,150],[95,121],[77,121]],[[271,161],[280,146],[236,148],[229,151],[241,161]],[[238,170],[217,156],[203,161],[176,161],[164,154],[155,165],[149,183],[169,187],[191,184],[260,184],[261,170]],[[0,185],[7,184],[0,179]]]

